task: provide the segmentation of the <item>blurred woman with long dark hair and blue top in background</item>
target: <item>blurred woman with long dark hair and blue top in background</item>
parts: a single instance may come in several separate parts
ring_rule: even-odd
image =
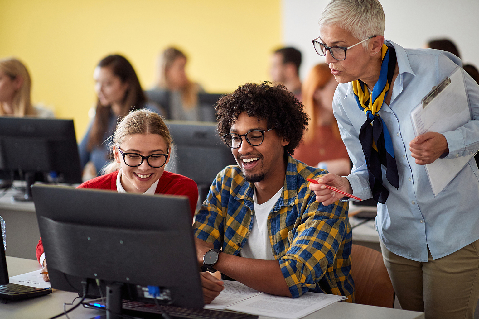
[[[133,66],[122,55],[108,55],[96,66],[93,73],[98,97],[95,116],[79,145],[80,164],[88,162],[90,171],[84,176],[95,176],[109,161],[105,141],[115,131],[119,118],[130,110],[147,108],[160,113],[155,104],[147,102]]]

